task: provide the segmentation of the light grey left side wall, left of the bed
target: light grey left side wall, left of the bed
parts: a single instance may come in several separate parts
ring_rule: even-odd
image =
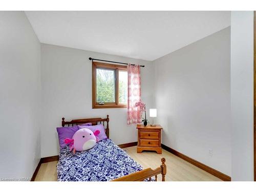
[[[0,11],[0,178],[32,177],[40,159],[40,43],[22,11]]]

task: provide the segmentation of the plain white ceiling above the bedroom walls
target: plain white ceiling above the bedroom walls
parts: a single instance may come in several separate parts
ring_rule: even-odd
[[[229,11],[26,11],[40,40],[155,60],[230,26]]]

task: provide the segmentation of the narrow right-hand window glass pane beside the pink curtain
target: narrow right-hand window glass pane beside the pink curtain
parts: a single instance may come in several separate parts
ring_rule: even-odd
[[[119,103],[127,103],[127,71],[119,71]]]

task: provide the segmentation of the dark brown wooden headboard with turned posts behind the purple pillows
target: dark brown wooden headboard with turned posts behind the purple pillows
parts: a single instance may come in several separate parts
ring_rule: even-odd
[[[83,123],[92,123],[92,125],[103,124],[103,126],[105,127],[104,122],[106,122],[105,133],[106,133],[106,136],[108,138],[110,138],[109,121],[110,121],[109,115],[106,115],[105,119],[90,118],[90,119],[73,119],[71,121],[65,121],[65,118],[62,117],[61,124],[62,124],[62,126],[65,126],[65,125],[70,126],[71,124],[72,124],[72,126],[74,126],[74,125],[83,124]]]

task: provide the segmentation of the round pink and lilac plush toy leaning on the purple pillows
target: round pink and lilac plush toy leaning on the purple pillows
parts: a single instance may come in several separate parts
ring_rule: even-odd
[[[86,151],[92,148],[96,142],[98,142],[98,137],[100,131],[96,130],[94,133],[87,129],[83,128],[78,130],[74,135],[72,139],[66,138],[65,143],[70,144],[70,151],[73,150],[73,153],[76,153],[76,151]]]

